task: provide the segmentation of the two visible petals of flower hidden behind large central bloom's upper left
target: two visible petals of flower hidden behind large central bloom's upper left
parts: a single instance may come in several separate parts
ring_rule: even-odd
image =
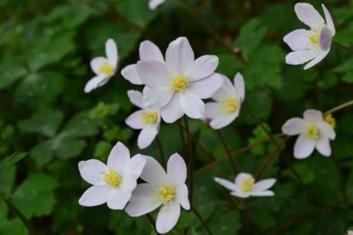
[[[164,63],[164,57],[159,48],[152,42],[145,40],[140,43],[139,49],[140,60],[156,60]],[[121,70],[121,76],[135,85],[143,85],[140,76],[136,70],[136,64],[128,65]]]

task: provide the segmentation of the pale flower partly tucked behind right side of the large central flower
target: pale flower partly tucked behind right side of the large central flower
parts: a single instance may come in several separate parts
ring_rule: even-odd
[[[206,117],[210,126],[220,129],[231,124],[238,116],[245,98],[244,78],[240,73],[234,77],[234,85],[223,76],[223,86],[211,97],[216,102],[206,104]]]

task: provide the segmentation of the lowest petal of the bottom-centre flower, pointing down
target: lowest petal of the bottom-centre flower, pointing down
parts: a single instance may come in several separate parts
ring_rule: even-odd
[[[158,212],[156,228],[159,233],[170,231],[178,222],[180,216],[180,204],[177,201],[162,205]]]

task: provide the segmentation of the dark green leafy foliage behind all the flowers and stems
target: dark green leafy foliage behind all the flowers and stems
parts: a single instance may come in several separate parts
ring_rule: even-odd
[[[305,72],[302,66],[285,65],[290,49],[282,38],[304,27],[295,16],[295,1],[191,1],[225,42],[242,50],[248,66],[217,44],[180,0],[167,0],[157,11],[148,10],[146,0],[91,2],[103,11],[79,2],[0,1],[0,234],[28,234],[6,200],[39,234],[154,234],[144,216],[130,218],[105,205],[88,208],[77,202],[88,187],[78,172],[80,160],[105,161],[118,140],[132,153],[159,157],[155,144],[138,150],[138,132],[124,124],[135,109],[126,91],[138,87],[118,74],[104,87],[88,95],[83,92],[94,76],[89,61],[104,54],[107,38],[117,42],[123,68],[138,60],[139,42],[151,40],[165,51],[170,41],[187,36],[197,56],[219,56],[217,72],[230,78],[238,71],[244,75],[245,108],[272,133],[279,133],[285,120],[301,116],[305,109],[326,111],[352,99],[353,58],[346,52],[332,47],[323,62]],[[320,1],[310,3],[322,13]],[[353,1],[327,0],[325,5],[336,25],[334,40],[352,47]],[[119,17],[112,17],[112,12]],[[294,160],[290,139],[263,175],[278,179],[276,195],[250,198],[250,213],[238,198],[237,208],[229,207],[211,168],[198,170],[209,162],[195,147],[195,206],[213,233],[345,233],[353,224],[353,113],[346,109],[335,118],[332,149],[337,162],[316,153]],[[190,125],[214,160],[225,156],[211,128],[201,121]],[[232,151],[266,138],[245,113],[222,134]],[[160,138],[166,156],[184,153],[175,124],[163,124]],[[255,174],[273,150],[266,143],[237,156],[238,168]],[[28,154],[12,155],[15,152]],[[222,177],[234,178],[227,162],[217,168]],[[182,213],[170,234],[181,234],[187,226],[188,234],[205,234],[191,212]]]

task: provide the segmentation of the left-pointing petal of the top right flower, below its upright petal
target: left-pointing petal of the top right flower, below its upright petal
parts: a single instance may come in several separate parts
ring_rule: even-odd
[[[312,34],[310,30],[294,30],[284,36],[283,41],[293,51],[302,51],[311,48],[309,36]]]

